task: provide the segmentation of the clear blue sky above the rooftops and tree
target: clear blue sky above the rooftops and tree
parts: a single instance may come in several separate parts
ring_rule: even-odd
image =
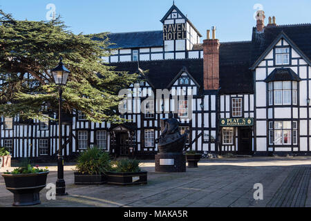
[[[162,30],[160,19],[172,6],[171,0],[0,0],[0,8],[16,19],[46,20],[48,3],[54,3],[57,15],[76,34]],[[311,23],[310,0],[176,0],[176,6],[188,16],[204,39],[206,30],[217,26],[220,41],[250,40],[253,18],[260,3],[276,23]],[[257,8],[258,9],[258,8]]]

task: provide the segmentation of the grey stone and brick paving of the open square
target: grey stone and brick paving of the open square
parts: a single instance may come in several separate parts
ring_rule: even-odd
[[[47,182],[55,183],[57,168],[49,169]],[[37,206],[311,207],[311,157],[206,160],[187,173],[155,173],[147,161],[148,184],[141,186],[76,186],[73,169],[65,166],[69,195],[46,200],[44,189]],[[263,200],[254,200],[256,183],[263,184]],[[11,206],[12,198],[0,177],[0,206]]]

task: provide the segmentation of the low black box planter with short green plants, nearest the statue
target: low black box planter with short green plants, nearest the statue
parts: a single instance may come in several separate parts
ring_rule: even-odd
[[[147,171],[140,169],[138,160],[118,160],[112,162],[111,171],[107,172],[107,183],[116,185],[147,184]]]

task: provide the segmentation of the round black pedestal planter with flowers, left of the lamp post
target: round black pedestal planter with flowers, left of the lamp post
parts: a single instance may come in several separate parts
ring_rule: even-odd
[[[28,160],[23,160],[18,169],[3,173],[6,189],[14,194],[13,206],[31,206],[41,204],[39,192],[46,187],[49,171],[33,167]]]

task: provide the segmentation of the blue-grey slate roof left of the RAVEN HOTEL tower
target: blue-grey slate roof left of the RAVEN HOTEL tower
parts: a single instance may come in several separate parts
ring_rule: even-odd
[[[149,48],[163,46],[163,31],[109,33],[109,48]]]

